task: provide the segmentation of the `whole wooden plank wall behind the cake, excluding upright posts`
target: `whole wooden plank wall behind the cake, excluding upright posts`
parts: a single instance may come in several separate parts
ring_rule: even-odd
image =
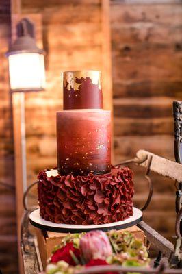
[[[70,64],[72,69],[102,68],[102,15],[101,0],[22,0],[21,10],[42,16],[47,52],[47,90],[26,95],[30,184],[41,169],[56,166],[55,112],[62,109],[60,71],[70,69]],[[132,157],[138,149],[174,159],[172,101],[181,99],[182,92],[180,1],[110,0],[110,12],[115,162]],[[11,36],[9,0],[0,4],[0,14],[0,182],[14,186],[12,108],[4,57]],[[147,191],[142,172],[135,171],[137,206]],[[145,220],[171,240],[174,185],[157,175],[152,178],[154,199]],[[0,199],[0,269],[14,274],[18,273],[14,191],[1,186]]]

